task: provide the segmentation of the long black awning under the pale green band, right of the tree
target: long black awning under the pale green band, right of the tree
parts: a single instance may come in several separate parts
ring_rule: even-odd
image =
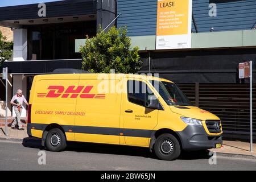
[[[214,49],[150,52],[151,73],[174,82],[239,83],[238,64],[253,61],[256,83],[255,49]],[[148,73],[148,53],[141,53],[143,66],[138,73]],[[242,82],[249,82],[243,79]]]

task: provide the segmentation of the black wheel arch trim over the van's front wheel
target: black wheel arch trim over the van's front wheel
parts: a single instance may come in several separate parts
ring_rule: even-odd
[[[180,140],[180,137],[179,135],[176,134],[175,131],[171,130],[171,129],[160,129],[160,130],[157,130],[155,131],[152,136],[151,136],[151,139],[150,139],[150,152],[153,151],[153,148],[154,148],[154,144],[156,142],[156,139],[162,135],[162,134],[172,134],[174,135],[174,137],[178,140],[179,144],[180,144],[180,148],[183,148],[182,146],[182,143],[181,143],[181,140]]]

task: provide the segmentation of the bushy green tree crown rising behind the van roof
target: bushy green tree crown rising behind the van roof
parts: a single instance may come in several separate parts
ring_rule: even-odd
[[[93,73],[135,73],[142,65],[139,48],[131,48],[131,40],[126,36],[127,28],[111,27],[108,32],[99,28],[97,36],[86,36],[82,54],[82,69]]]

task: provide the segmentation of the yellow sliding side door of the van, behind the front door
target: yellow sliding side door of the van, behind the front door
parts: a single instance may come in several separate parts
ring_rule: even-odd
[[[119,144],[121,93],[113,90],[118,82],[81,74],[84,90],[77,98],[76,141]]]

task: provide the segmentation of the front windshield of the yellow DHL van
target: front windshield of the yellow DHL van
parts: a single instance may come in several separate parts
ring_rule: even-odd
[[[193,106],[175,84],[156,80],[151,80],[150,82],[168,105]]]

